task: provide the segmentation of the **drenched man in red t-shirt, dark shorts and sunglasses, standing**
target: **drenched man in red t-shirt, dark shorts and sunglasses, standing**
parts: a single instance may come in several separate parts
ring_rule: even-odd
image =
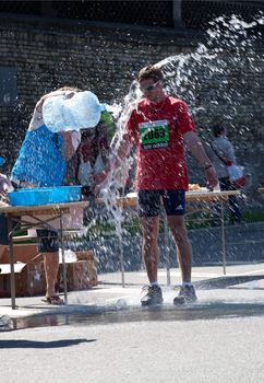
[[[149,279],[148,291],[142,305],[160,304],[161,289],[157,281],[158,228],[160,199],[167,213],[181,267],[182,286],[175,298],[176,305],[194,302],[191,282],[192,248],[184,223],[188,170],[184,143],[205,171],[211,187],[217,185],[217,175],[199,139],[187,104],[168,96],[164,90],[163,72],[155,66],[143,68],[137,77],[144,97],[132,106],[117,154],[96,183],[101,182],[110,169],[121,164],[132,144],[136,147],[139,213],[143,229],[143,254]]]

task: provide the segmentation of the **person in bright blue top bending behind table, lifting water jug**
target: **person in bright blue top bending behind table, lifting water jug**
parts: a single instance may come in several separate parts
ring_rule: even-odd
[[[79,90],[64,86],[44,95],[36,104],[33,117],[22,143],[19,156],[11,172],[11,182],[15,188],[61,186],[67,161],[76,151],[80,131],[52,132],[43,119],[43,104],[48,97],[63,95],[72,97]],[[4,189],[1,189],[4,193]],[[8,245],[7,218],[0,216],[1,245]],[[63,304],[56,293],[56,281],[59,269],[58,232],[37,230],[39,252],[44,256],[46,276],[46,298],[49,304]]]

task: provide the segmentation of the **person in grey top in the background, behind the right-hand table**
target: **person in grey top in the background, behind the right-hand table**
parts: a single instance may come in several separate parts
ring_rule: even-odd
[[[216,173],[219,181],[220,190],[233,190],[235,187],[228,176],[227,166],[225,161],[231,161],[236,164],[236,155],[233,146],[226,137],[226,129],[219,125],[215,125],[212,128],[215,139],[209,144],[207,154],[216,169]],[[238,206],[238,199],[236,196],[228,197],[231,220],[232,223],[241,223],[241,212]],[[219,214],[219,207],[216,206],[216,210]],[[216,220],[213,220],[213,224],[216,224]]]

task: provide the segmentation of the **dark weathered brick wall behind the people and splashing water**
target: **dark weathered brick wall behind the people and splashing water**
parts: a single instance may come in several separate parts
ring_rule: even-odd
[[[203,39],[203,35],[184,31],[176,34],[161,28],[120,30],[115,25],[98,26],[29,16],[7,20],[2,14],[0,66],[16,67],[17,103],[14,107],[0,107],[0,153],[11,166],[34,104],[43,94],[68,84],[93,91],[100,102],[120,103],[143,66],[180,53],[194,51]],[[262,45],[255,49],[260,51]],[[208,139],[207,127],[212,121],[225,123],[240,162],[252,174],[248,194],[255,201],[262,201],[254,190],[259,183],[264,183],[263,71],[264,60],[260,59],[254,62],[253,69],[245,63],[238,71],[229,71],[227,78],[225,73],[219,74],[225,80],[220,81],[225,84],[221,85],[225,94],[228,94],[228,90],[231,92],[232,85],[240,82],[241,77],[241,89],[251,90],[242,98],[243,91],[240,90],[238,100],[232,100],[229,105],[225,97],[220,100],[219,78],[207,77],[199,68],[191,73],[191,78],[187,78],[189,84],[178,90],[178,94],[191,105],[204,139]],[[211,102],[216,93],[217,107],[214,107]],[[236,113],[229,113],[231,107],[236,108]],[[196,165],[193,161],[190,164],[193,178],[197,173]],[[201,177],[202,174],[199,175]]]

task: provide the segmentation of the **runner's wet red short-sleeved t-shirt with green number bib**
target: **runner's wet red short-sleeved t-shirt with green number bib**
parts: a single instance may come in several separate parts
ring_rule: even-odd
[[[194,130],[183,101],[168,96],[155,105],[146,98],[139,102],[124,134],[137,149],[136,190],[188,190],[183,135]]]

